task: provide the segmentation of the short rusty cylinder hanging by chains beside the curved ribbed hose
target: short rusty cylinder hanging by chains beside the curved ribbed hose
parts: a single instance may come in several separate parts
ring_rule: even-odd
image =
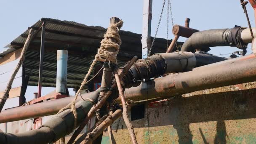
[[[180,26],[178,24],[175,24],[173,26],[173,35],[179,35],[181,37],[190,37],[195,32],[199,32],[199,30]]]

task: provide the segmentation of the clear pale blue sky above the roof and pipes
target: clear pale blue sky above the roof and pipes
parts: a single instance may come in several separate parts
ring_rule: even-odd
[[[190,27],[199,30],[248,27],[240,0],[172,0],[174,24],[184,25],[190,18]],[[153,0],[152,32],[161,13],[163,0]],[[166,38],[166,6],[157,37]],[[252,27],[255,27],[253,8],[247,5]],[[76,21],[86,25],[107,27],[112,16],[123,19],[123,30],[141,33],[143,0],[0,0],[0,48],[18,37],[42,17]],[[171,27],[171,19],[169,20]],[[173,38],[171,31],[169,39]],[[180,38],[179,41],[184,41]],[[232,53],[238,48],[216,47],[210,53]],[[248,45],[251,53],[251,45]]]

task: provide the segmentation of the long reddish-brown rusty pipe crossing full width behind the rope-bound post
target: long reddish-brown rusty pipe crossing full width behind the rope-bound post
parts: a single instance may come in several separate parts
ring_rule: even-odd
[[[156,78],[153,81],[142,83],[138,87],[128,88],[125,90],[126,99],[143,100],[149,98],[173,96],[176,94],[187,93],[191,91],[203,90],[204,88],[215,88],[225,85],[233,85],[237,83],[251,82],[255,80],[256,72],[254,54],[242,56],[235,59],[221,61],[218,64],[210,64],[207,67],[198,67],[190,72],[184,72],[166,77]],[[248,74],[248,75],[246,75]],[[187,79],[183,80],[184,77]],[[181,79],[183,78],[183,79]],[[197,83],[197,87],[186,87],[181,89],[177,87],[177,83]],[[216,80],[216,83],[214,81]],[[231,81],[231,82],[229,82]],[[207,83],[209,82],[209,83]],[[218,84],[220,83],[220,84]],[[200,85],[199,85],[200,84]],[[207,87],[204,87],[206,85]],[[188,91],[189,90],[189,91]],[[98,95],[99,89],[91,93],[83,93],[83,99],[91,95]],[[65,107],[72,101],[73,97],[67,97],[43,103],[32,104],[22,107],[7,109],[0,113],[0,123],[6,123],[16,120],[24,120],[27,118],[40,117],[46,115],[54,115],[59,109]],[[81,100],[80,96],[77,101]]]

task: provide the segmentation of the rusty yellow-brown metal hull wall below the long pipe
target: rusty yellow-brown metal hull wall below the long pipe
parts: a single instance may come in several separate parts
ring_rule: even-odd
[[[256,141],[256,83],[197,91],[193,95],[155,102],[147,115],[133,121],[140,144],[251,144]],[[147,111],[147,107],[145,109]],[[122,118],[113,124],[117,144],[130,143]],[[102,144],[109,144],[104,133]]]

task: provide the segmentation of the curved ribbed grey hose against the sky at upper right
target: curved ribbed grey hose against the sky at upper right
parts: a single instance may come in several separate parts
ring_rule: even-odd
[[[252,39],[249,38],[251,34],[247,31],[248,29],[236,26],[232,29],[210,29],[195,32],[184,42],[181,51],[194,52],[196,49],[209,51],[209,47],[215,46],[235,46],[245,49],[247,44],[252,42]]]

